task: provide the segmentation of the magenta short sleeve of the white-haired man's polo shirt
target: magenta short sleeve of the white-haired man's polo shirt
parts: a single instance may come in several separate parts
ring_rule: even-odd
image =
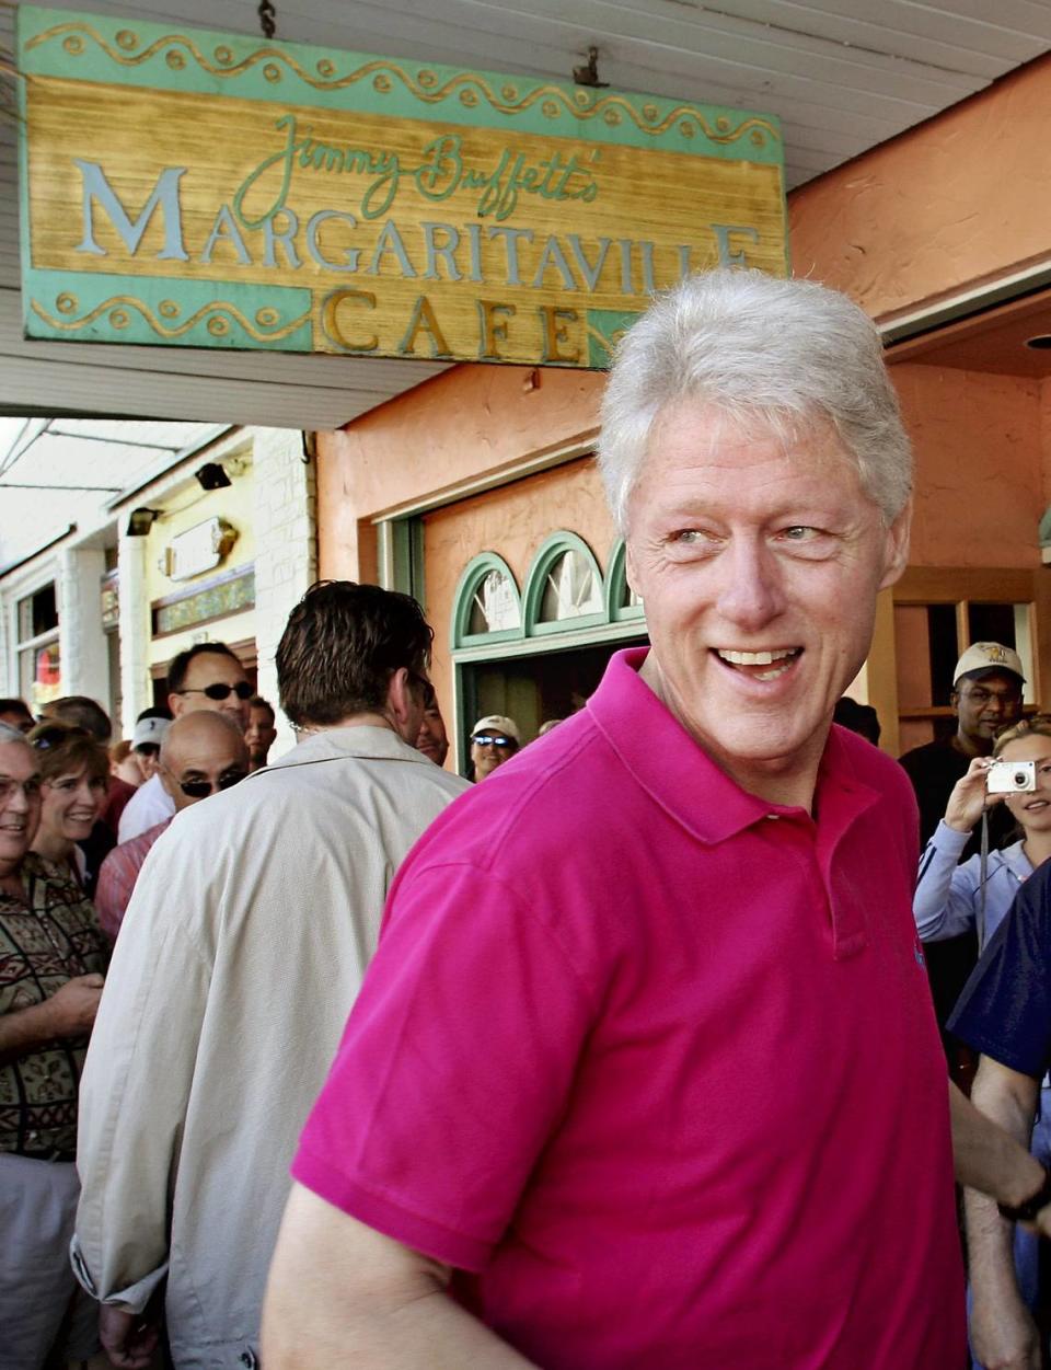
[[[593,1011],[556,921],[467,864],[403,870],[295,1178],[485,1267],[562,1117]]]

